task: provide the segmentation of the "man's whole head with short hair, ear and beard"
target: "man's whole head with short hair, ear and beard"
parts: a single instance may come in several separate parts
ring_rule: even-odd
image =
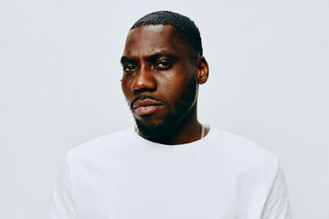
[[[155,12],[133,25],[121,60],[122,91],[143,137],[158,139],[196,120],[198,84],[208,75],[201,55],[201,37],[186,16]]]

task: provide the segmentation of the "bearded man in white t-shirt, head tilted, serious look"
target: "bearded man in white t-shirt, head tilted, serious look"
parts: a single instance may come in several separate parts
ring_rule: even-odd
[[[69,151],[48,218],[291,218],[278,159],[197,120],[208,65],[193,21],[143,16],[121,62],[136,126]]]

